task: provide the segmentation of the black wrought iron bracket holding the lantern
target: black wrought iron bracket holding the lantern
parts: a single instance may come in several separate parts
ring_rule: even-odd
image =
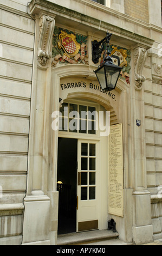
[[[105,38],[103,38],[101,41],[94,40],[92,41],[92,61],[96,64],[99,62],[99,58],[101,58],[101,54],[105,45],[105,42],[107,44],[107,48],[109,46],[109,41],[111,40],[111,33],[107,32],[107,35]]]

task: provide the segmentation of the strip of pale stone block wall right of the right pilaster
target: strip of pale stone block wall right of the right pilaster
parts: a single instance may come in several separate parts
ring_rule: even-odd
[[[144,71],[147,188],[151,193],[154,239],[162,236],[162,62],[158,45],[154,44],[148,53]]]

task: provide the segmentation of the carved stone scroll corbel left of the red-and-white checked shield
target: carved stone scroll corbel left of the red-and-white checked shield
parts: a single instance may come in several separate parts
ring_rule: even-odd
[[[51,40],[55,27],[55,20],[43,15],[40,19],[40,39],[38,43],[37,59],[42,66],[48,64],[51,58]]]

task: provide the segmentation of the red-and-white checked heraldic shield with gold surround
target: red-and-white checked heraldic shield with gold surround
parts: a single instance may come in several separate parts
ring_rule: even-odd
[[[78,44],[76,41],[76,35],[69,35],[67,32],[61,31],[59,40],[60,41],[58,42],[58,46],[60,49],[63,49],[64,55],[68,56],[69,58],[76,56],[80,50],[80,44]]]

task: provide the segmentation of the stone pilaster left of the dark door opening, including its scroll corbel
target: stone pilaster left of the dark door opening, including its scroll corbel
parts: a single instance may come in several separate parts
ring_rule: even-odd
[[[29,131],[27,194],[22,245],[50,245],[47,196],[51,41],[54,17],[36,14]]]

